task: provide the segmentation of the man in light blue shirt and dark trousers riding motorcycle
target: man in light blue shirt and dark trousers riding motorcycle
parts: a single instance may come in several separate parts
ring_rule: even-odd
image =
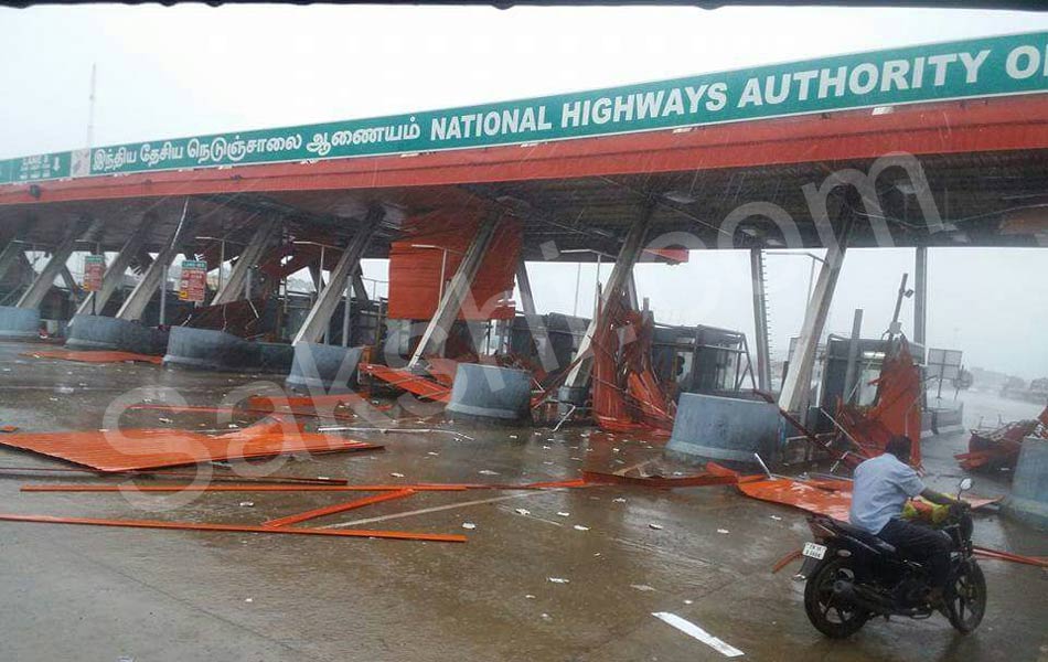
[[[911,449],[909,437],[892,437],[884,455],[855,469],[849,520],[853,526],[896,547],[903,557],[924,565],[932,585],[928,600],[938,606],[942,604],[950,574],[950,537],[941,531],[906,521],[903,506],[918,495],[940,505],[965,508],[966,504],[929,490],[909,466]]]

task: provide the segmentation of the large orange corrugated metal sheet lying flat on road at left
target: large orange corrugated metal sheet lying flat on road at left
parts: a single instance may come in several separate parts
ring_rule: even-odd
[[[382,448],[362,441],[306,433],[300,426],[288,426],[281,421],[264,421],[215,437],[172,429],[86,430],[4,435],[0,444],[61,458],[99,471],[157,469],[293,452]]]

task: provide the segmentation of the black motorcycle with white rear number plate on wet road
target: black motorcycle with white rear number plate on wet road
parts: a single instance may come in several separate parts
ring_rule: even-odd
[[[958,500],[971,487],[972,479],[962,480]],[[826,637],[849,637],[878,616],[885,620],[892,616],[924,619],[938,610],[965,634],[983,620],[986,580],[973,556],[973,525],[966,508],[951,508],[940,527],[950,536],[953,549],[939,605],[928,599],[931,584],[927,569],[902,558],[876,535],[822,515],[809,517],[809,526],[815,542],[804,545],[799,577],[805,580],[808,619]]]

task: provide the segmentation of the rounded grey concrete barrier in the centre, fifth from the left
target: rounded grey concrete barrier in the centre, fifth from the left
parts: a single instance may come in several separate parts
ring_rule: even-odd
[[[459,363],[447,410],[480,420],[515,423],[531,415],[532,375],[523,370]]]

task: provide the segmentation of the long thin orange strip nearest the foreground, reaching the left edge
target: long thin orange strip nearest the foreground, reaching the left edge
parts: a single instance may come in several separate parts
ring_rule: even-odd
[[[160,522],[157,520],[98,520],[95,517],[55,517],[52,515],[0,514],[4,522],[34,522],[39,524],[86,524],[90,526],[126,526],[130,528],[172,528],[177,531],[223,531],[233,533],[289,533],[298,535],[329,535],[341,537],[372,537],[395,541],[427,541],[431,543],[464,543],[464,535],[414,533],[409,531],[367,531],[363,528],[295,528],[245,524],[202,524],[197,522]]]

